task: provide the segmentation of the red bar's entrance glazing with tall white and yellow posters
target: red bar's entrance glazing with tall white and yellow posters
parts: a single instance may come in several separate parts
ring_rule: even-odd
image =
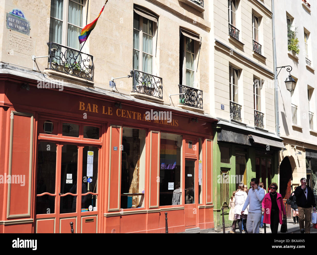
[[[82,184],[81,194],[87,192],[97,193],[98,179],[98,148],[85,146],[82,157]],[[87,194],[81,196],[81,211],[88,211],[89,206],[97,206],[97,195]]]

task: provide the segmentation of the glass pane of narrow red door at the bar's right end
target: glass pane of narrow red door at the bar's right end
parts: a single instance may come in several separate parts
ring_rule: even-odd
[[[195,203],[195,161],[185,160],[185,204]]]

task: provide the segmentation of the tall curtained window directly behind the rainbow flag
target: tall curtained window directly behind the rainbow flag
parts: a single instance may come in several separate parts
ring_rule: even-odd
[[[79,50],[84,0],[51,0],[49,41]]]

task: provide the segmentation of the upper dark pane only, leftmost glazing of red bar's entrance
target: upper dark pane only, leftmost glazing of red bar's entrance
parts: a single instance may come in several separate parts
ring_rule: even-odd
[[[36,194],[55,194],[56,144],[40,142],[37,153]]]

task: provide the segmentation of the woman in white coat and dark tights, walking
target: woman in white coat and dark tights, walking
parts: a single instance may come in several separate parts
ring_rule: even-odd
[[[238,226],[239,226],[239,231],[240,233],[242,233],[242,219],[246,219],[247,218],[247,214],[248,214],[248,211],[245,211],[244,214],[242,214],[242,207],[243,207],[243,204],[245,203],[245,200],[247,199],[247,193],[244,191],[244,185],[243,183],[240,183],[239,184],[239,188],[240,190],[236,192],[235,194],[235,202],[236,202],[236,206],[235,206],[235,221],[233,222],[234,223],[234,231],[236,230],[236,223],[238,222]],[[247,232],[247,228],[246,228],[246,222],[243,223],[244,224],[244,229],[245,229],[245,233],[248,233]]]

